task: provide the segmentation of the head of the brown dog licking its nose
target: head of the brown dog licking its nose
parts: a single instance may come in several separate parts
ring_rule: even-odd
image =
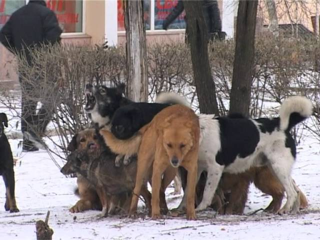
[[[89,128],[76,133],[67,146],[68,151],[87,150],[88,153],[100,149],[99,135],[95,129]]]

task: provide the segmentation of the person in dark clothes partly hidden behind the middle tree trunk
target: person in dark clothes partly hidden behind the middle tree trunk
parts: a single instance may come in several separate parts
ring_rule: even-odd
[[[225,32],[221,31],[221,18],[218,2],[216,0],[202,0],[199,2],[202,3],[203,17],[206,23],[209,40],[223,40],[225,38]],[[164,19],[162,23],[163,29],[166,30],[170,23],[174,21],[174,19],[177,18],[183,10],[183,1],[178,0],[176,6],[172,9],[170,14],[167,15],[167,17]],[[185,36],[187,41],[187,16],[185,16],[184,19],[186,22]]]

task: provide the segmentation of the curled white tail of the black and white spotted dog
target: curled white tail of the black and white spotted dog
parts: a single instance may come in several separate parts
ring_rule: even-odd
[[[312,102],[304,96],[290,96],[280,106],[280,129],[290,130],[313,112]]]

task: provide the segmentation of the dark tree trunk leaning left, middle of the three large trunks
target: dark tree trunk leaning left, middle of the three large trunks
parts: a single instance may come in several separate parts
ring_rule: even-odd
[[[219,114],[215,97],[215,84],[208,59],[208,33],[201,2],[183,0],[187,17],[188,42],[190,43],[194,84],[201,113]]]

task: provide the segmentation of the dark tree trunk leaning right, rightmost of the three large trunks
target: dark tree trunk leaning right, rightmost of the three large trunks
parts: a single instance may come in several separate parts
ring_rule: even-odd
[[[240,0],[236,19],[230,113],[249,115],[257,0]]]

